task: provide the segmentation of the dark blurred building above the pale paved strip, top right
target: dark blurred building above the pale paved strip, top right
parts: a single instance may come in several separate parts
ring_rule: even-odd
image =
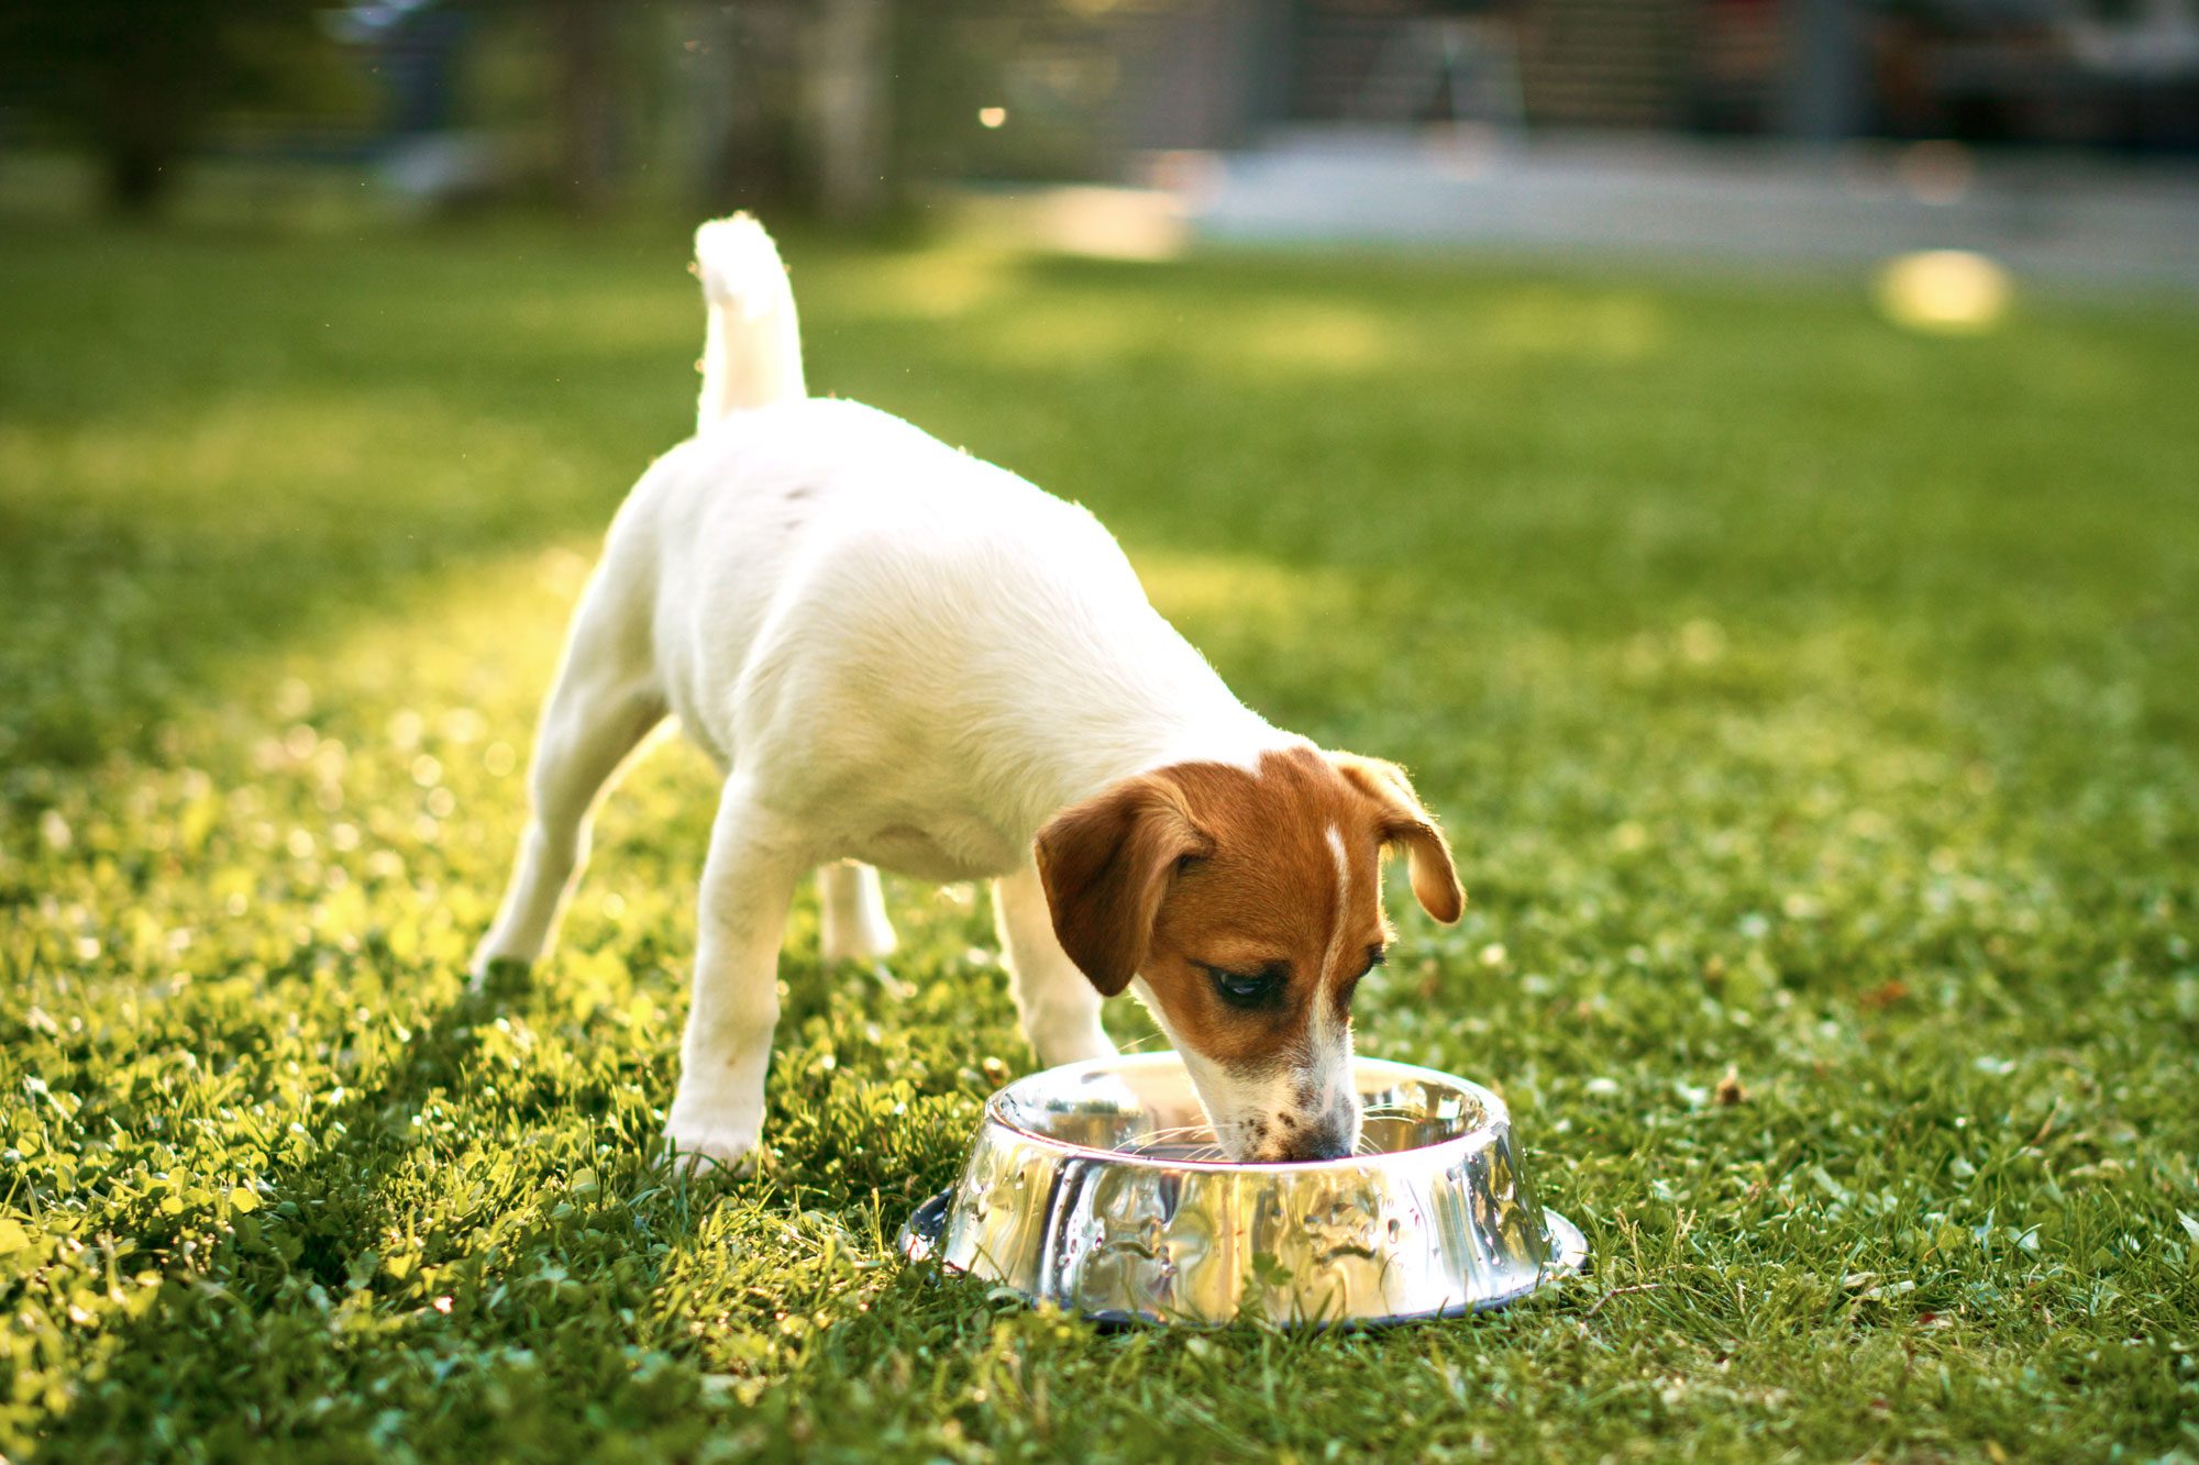
[[[1128,147],[1438,121],[2199,147],[2192,0],[1183,0],[1106,13],[1121,77],[1108,114]]]

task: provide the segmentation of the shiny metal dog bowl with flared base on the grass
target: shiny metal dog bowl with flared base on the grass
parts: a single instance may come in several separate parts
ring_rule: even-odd
[[[1579,1271],[1588,1243],[1535,1203],[1504,1100],[1379,1058],[1352,1078],[1368,1153],[1229,1164],[1174,1054],[1031,1073],[902,1249],[1106,1322],[1456,1318]]]

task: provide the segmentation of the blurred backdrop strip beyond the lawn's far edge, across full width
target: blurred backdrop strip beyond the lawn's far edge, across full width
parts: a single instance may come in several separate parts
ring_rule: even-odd
[[[0,207],[970,220],[2199,286],[2195,0],[15,0]],[[1975,282],[1970,284],[1975,293]]]

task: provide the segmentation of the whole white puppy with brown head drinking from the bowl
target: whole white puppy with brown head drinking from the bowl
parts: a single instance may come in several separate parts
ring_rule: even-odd
[[[1042,1062],[1115,1051],[1135,990],[1234,1159],[1359,1139],[1350,1001],[1381,856],[1440,922],[1465,893],[1405,774],[1247,711],[1115,539],[908,422],[811,398],[785,268],[748,216],[695,235],[693,438],[611,524],[534,746],[532,820],[475,970],[532,961],[600,790],[666,715],[726,774],[666,1135],[734,1161],[763,1124],[787,902],[827,959],[893,950],[877,869],[992,880]]]

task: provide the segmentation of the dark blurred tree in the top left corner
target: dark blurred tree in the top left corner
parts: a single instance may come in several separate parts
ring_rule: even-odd
[[[90,147],[150,216],[216,112],[273,101],[330,48],[325,0],[4,0],[0,97]]]

